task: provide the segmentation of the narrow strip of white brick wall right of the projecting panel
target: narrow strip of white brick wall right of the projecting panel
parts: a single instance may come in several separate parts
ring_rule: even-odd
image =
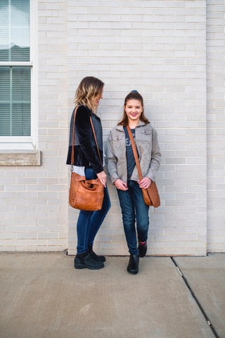
[[[225,3],[207,0],[207,250],[225,251]]]

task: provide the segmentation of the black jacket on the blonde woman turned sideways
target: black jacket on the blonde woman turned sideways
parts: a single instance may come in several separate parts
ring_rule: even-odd
[[[67,164],[71,164],[74,115],[75,109],[72,112],[70,121],[70,143],[68,148]],[[101,120],[86,106],[79,106],[75,118],[75,161],[72,164],[79,167],[93,168],[95,173],[98,174],[103,171],[103,165],[101,164],[100,158],[98,156],[98,150],[91,128],[90,117],[94,125],[98,149],[100,152],[101,161],[103,163],[103,131]]]

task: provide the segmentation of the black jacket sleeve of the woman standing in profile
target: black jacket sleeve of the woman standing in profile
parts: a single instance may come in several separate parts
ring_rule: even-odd
[[[79,145],[86,157],[87,161],[91,164],[95,173],[101,173],[103,166],[101,165],[98,151],[94,147],[91,139],[94,137],[91,129],[90,112],[84,106],[79,106],[75,119],[76,132],[79,139]]]

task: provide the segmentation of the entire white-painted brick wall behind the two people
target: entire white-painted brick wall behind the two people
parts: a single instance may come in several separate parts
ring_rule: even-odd
[[[42,165],[2,167],[1,250],[76,251],[65,159],[75,89],[86,75],[105,82],[98,109],[105,145],[131,89],[143,94],[158,130],[161,206],[150,210],[148,254],[204,255],[206,234],[208,249],[224,250],[223,5],[207,1],[206,79],[205,0],[38,1]],[[108,187],[112,208],[96,251],[124,255],[117,193]]]

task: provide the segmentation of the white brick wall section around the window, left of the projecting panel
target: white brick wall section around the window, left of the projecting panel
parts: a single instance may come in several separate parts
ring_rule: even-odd
[[[68,247],[67,1],[38,2],[35,53],[42,165],[1,167],[1,251]]]

